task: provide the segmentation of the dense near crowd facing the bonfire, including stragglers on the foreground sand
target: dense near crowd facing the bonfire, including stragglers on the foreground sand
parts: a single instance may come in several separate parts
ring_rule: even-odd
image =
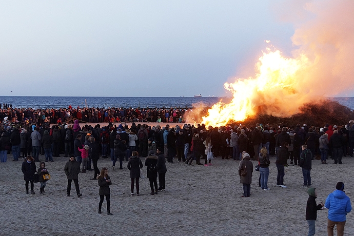
[[[75,120],[73,125],[64,122],[50,127],[49,123],[38,126],[35,123],[10,123],[5,120],[0,126],[0,133],[2,162],[6,162],[4,154],[7,156],[8,152],[13,155],[12,161],[18,161],[21,158],[20,151],[22,152],[24,158],[22,170],[27,193],[29,183],[31,193],[34,193],[34,180],[29,176],[36,172],[35,162],[40,161],[38,155],[45,154],[45,162],[48,162],[54,161],[53,157],[65,154],[65,157],[70,156],[70,161],[64,168],[68,178],[68,196],[72,181],[77,196],[82,195],[77,182],[78,173],[93,170],[92,180],[99,180],[100,185],[99,213],[106,196],[108,214],[111,214],[109,210],[111,180],[107,169],[100,171],[97,167],[100,157],[111,159],[112,170],[117,160],[120,161],[120,169],[123,168],[123,161],[128,161],[131,195],[135,193],[139,195],[139,179],[144,177],[141,172],[142,157],[145,158],[146,175],[152,195],[165,189],[166,159],[171,164],[178,161],[188,165],[193,165],[193,161],[196,165],[203,165],[201,160],[205,159],[205,167],[211,166],[211,160],[214,158],[237,160],[240,161],[239,174],[244,187],[243,196],[249,197],[254,170],[252,161],[258,164],[256,170],[260,171],[259,187],[263,190],[270,190],[267,183],[269,157],[274,155],[277,156],[277,186],[286,188],[284,167],[291,165],[302,168],[303,187],[310,188],[312,160],[321,160],[322,164],[327,164],[330,157],[334,164],[342,164],[342,156],[352,157],[354,148],[354,121],[342,126],[308,127],[306,124],[302,126],[297,124],[290,127],[285,125],[275,127],[257,124],[255,127],[209,126],[206,129],[204,124],[196,126],[178,124],[175,127],[166,124],[165,127],[160,125],[150,127],[135,123],[130,127],[125,123],[118,126],[109,123],[108,126],[101,128],[100,124],[94,127],[81,126],[78,120]],[[37,171],[40,175],[48,173],[45,162],[40,164],[41,168]],[[40,182],[43,193],[46,180],[40,178]],[[309,227],[312,227],[312,223],[309,223]]]

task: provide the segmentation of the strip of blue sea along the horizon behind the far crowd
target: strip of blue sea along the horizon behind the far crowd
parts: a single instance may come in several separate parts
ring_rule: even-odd
[[[17,108],[123,107],[123,108],[191,108],[193,104],[211,107],[230,97],[93,97],[93,96],[0,96],[1,104]],[[354,110],[354,97],[328,97]]]

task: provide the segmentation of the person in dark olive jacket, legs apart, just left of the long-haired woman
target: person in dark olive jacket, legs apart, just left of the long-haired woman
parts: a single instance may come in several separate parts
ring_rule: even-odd
[[[78,187],[78,173],[80,173],[80,163],[76,162],[75,156],[70,156],[70,160],[65,164],[64,172],[68,179],[67,196],[70,196],[71,182],[74,181],[77,198],[80,198],[83,195],[80,193],[80,188]]]

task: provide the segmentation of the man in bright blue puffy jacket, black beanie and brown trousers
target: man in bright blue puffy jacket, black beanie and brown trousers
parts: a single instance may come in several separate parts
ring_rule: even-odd
[[[333,236],[333,228],[337,224],[337,235],[344,234],[346,214],[351,211],[350,199],[344,192],[344,183],[338,182],[336,190],[331,192],[326,199],[325,207],[328,208],[328,236]]]

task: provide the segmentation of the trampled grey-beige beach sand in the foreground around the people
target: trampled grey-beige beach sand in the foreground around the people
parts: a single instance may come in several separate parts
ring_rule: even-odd
[[[40,156],[40,160],[44,160]],[[112,170],[109,159],[100,159],[99,168],[108,167],[112,180],[111,212],[106,203],[97,213],[99,186],[90,180],[92,171],[79,174],[83,194],[77,198],[72,184],[71,196],[66,196],[67,179],[63,168],[68,158],[54,158],[47,168],[52,179],[45,195],[40,183],[36,194],[26,194],[21,172],[22,159],[0,163],[0,235],[306,235],[305,221],[307,188],[302,188],[302,172],[297,166],[285,168],[284,184],[276,187],[277,169],[271,158],[268,187],[258,187],[259,172],[254,171],[251,197],[242,198],[238,176],[238,161],[212,161],[212,166],[188,166],[174,161],[167,164],[166,191],[150,195],[147,179],[140,180],[140,196],[130,195],[130,175]],[[142,159],[144,163],[144,159]],[[353,158],[343,158],[343,165],[312,163],[312,185],[317,187],[317,202],[325,202],[338,181],[345,183],[353,199]],[[193,164],[195,161],[193,161]],[[39,163],[36,163],[38,168]],[[256,163],[253,161],[253,165]],[[143,171],[146,172],[144,166]],[[345,234],[354,231],[353,213],[347,215]],[[327,235],[327,210],[318,211],[316,235]]]

